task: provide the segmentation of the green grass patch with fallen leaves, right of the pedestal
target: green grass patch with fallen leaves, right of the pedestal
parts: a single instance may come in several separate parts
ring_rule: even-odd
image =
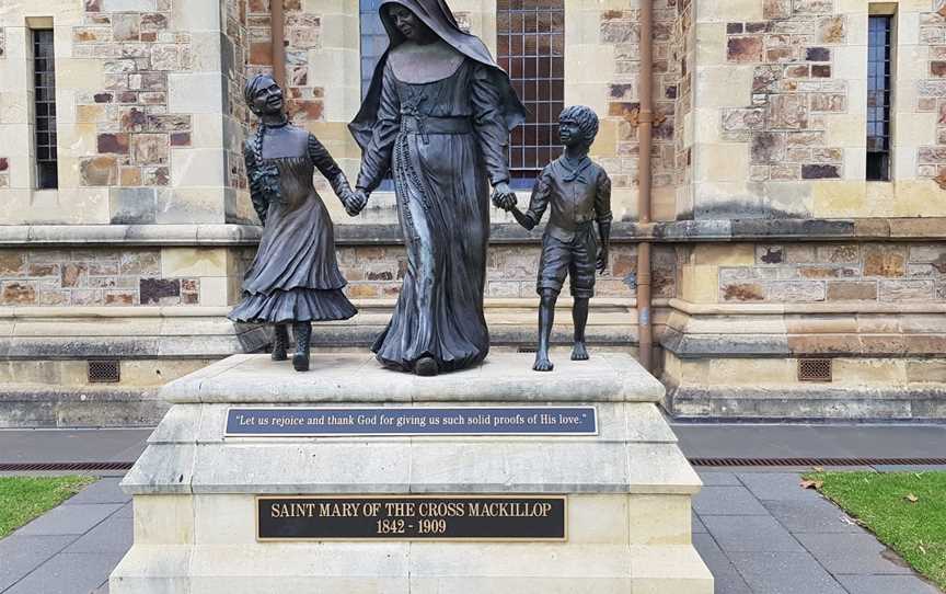
[[[819,491],[946,589],[946,472],[812,472]]]

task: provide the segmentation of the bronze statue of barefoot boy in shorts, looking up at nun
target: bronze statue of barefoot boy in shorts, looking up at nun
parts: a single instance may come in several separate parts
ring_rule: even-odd
[[[574,105],[558,117],[558,135],[565,153],[542,170],[529,210],[521,213],[515,198],[495,199],[496,206],[512,213],[519,225],[532,229],[552,204],[552,214],[542,237],[542,259],[539,263],[537,290],[542,298],[539,308],[539,350],[535,353],[537,372],[551,372],[549,339],[555,317],[555,301],[565,282],[570,278],[575,306],[575,345],[573,361],[586,361],[585,325],[588,321],[588,301],[595,294],[595,271],[608,266],[608,245],[611,238],[611,179],[601,165],[588,158],[588,149],[598,134],[598,116],[589,107]],[[595,237],[593,221],[598,222]]]

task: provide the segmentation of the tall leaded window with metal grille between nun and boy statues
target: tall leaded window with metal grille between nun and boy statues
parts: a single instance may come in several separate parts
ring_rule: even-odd
[[[512,130],[509,174],[531,183],[562,153],[558,114],[565,108],[565,3],[497,0],[497,54],[529,115]]]

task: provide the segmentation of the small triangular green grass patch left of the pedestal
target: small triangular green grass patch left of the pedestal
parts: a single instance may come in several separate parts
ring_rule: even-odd
[[[94,477],[0,477],[0,538],[92,482]]]

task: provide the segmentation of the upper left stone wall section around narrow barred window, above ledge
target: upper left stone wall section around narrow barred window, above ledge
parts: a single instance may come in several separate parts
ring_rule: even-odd
[[[14,141],[4,155],[0,222],[223,224],[227,210],[241,210],[241,182],[224,174],[231,129],[223,125],[220,4],[43,0],[4,8],[0,24],[12,50],[0,60],[0,132]],[[55,32],[55,191],[35,190],[24,25]]]

